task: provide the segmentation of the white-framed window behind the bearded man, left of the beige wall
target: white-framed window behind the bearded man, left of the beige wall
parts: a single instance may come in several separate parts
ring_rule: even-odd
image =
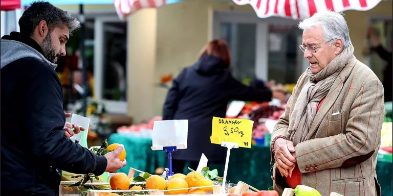
[[[77,15],[74,15],[77,17]],[[89,95],[102,101],[108,113],[127,113],[127,78],[126,78],[126,44],[127,44],[127,23],[120,21],[115,13],[96,13],[86,16],[85,27],[85,58],[88,67]],[[73,39],[67,44],[67,53],[71,56],[78,56],[79,34],[76,31]],[[79,59],[80,60],[80,59]],[[74,81],[81,83],[82,72],[81,62],[77,70],[73,70]],[[73,90],[72,104],[80,99],[80,95]],[[65,95],[64,95],[65,96]]]

